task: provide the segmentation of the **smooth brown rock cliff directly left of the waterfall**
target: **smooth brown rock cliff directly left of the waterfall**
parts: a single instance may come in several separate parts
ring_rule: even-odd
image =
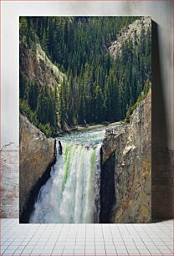
[[[49,178],[50,166],[55,161],[55,140],[46,138],[23,115],[20,115],[19,129],[19,216],[20,222],[27,222],[28,208]]]

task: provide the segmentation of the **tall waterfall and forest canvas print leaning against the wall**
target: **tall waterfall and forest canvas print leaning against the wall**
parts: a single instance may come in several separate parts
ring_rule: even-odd
[[[19,18],[20,223],[151,222],[151,18]]]

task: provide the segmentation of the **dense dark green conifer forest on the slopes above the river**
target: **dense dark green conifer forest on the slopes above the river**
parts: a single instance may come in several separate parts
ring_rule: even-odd
[[[110,44],[137,17],[23,17],[20,44],[40,44],[66,78],[58,88],[28,80],[21,67],[20,110],[48,136],[67,127],[125,118],[151,81],[151,28],[128,39],[114,59]],[[141,19],[139,17],[139,19]]]

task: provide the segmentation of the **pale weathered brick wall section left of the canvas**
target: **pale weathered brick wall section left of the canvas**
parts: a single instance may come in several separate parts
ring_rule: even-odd
[[[18,151],[1,151],[0,218],[18,218]]]

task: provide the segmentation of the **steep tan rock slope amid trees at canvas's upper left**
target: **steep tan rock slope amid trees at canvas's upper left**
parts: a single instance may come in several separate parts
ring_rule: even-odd
[[[21,43],[20,67],[28,78],[40,86],[49,86],[54,90],[66,75],[63,74],[48,58],[40,44],[33,43],[30,48]]]

